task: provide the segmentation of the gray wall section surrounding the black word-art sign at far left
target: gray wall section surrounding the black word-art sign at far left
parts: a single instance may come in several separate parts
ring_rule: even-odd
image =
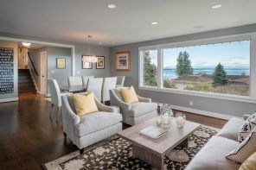
[[[14,49],[14,92],[10,94],[0,94],[0,100],[6,98],[18,98],[18,72],[17,72],[17,58],[18,58],[18,43],[13,41],[0,41],[0,47],[12,47]]]

